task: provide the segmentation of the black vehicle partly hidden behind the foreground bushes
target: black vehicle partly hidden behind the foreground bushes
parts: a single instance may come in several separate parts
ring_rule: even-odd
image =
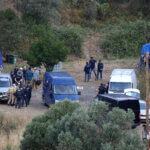
[[[110,110],[113,107],[119,107],[127,111],[132,109],[135,114],[134,123],[135,126],[140,124],[140,104],[139,99],[130,97],[124,94],[99,94],[96,100],[106,103]]]

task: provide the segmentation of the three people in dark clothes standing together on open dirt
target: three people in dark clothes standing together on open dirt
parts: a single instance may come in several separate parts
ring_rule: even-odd
[[[92,72],[94,72],[95,80],[99,79],[99,75],[100,75],[100,79],[102,80],[104,64],[102,63],[101,60],[98,61],[97,73],[96,73],[95,66],[96,66],[96,60],[93,57],[91,57],[89,62],[86,62],[85,66],[84,66],[84,72],[85,72],[84,81],[85,82],[87,82],[91,79]]]

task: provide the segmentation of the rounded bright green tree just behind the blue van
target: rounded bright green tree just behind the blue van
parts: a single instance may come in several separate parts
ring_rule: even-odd
[[[69,49],[50,30],[42,28],[40,35],[37,33],[35,36],[37,39],[32,43],[27,55],[29,65],[44,64],[45,68],[51,71],[55,64],[66,59]]]

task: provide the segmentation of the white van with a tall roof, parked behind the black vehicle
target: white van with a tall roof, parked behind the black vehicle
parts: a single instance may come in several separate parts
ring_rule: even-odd
[[[125,89],[130,88],[137,88],[134,69],[114,69],[110,76],[108,93],[124,93]]]

